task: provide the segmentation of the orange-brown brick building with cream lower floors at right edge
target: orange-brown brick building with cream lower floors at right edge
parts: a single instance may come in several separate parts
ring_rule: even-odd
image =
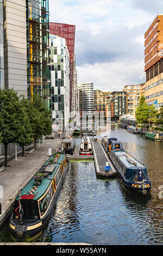
[[[148,105],[163,106],[163,14],[145,33],[145,97]]]

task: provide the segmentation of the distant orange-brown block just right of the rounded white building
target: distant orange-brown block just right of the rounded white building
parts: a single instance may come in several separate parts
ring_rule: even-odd
[[[94,94],[94,111],[104,112],[104,117],[106,118],[106,105],[108,103],[109,92],[102,92],[101,90],[93,90]]]

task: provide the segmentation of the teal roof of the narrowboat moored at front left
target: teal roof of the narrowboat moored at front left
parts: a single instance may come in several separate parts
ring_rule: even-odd
[[[59,154],[60,154],[60,153],[59,153]],[[34,194],[36,194],[36,192],[37,192],[37,194],[36,194],[36,196],[34,197],[34,200],[39,199],[39,198],[46,192],[48,186],[51,184],[52,179],[54,178],[55,174],[57,173],[57,170],[59,169],[60,164],[61,164],[62,161],[65,159],[65,156],[66,156],[66,155],[64,155],[64,154],[60,154],[60,157],[58,157],[57,163],[54,163],[54,164],[48,164],[48,162],[49,162],[51,159],[54,159],[54,156],[49,157],[48,160],[43,164],[43,166],[36,172],[36,173],[38,173],[38,172],[43,171],[43,168],[46,168],[47,166],[49,166],[49,167],[53,166],[53,168],[54,168],[53,173],[52,173],[52,174],[49,174],[47,178],[43,178],[41,184],[40,184],[39,187],[37,187],[37,189],[35,190]],[[42,169],[42,170],[41,170],[41,169]],[[45,170],[45,172],[46,172],[46,171],[47,171],[47,169]],[[35,175],[36,175],[36,173],[35,173]],[[35,176],[35,175],[34,175],[34,176]],[[23,187],[22,192],[21,192],[22,196],[23,196],[24,194],[27,195],[27,194],[32,190],[32,188],[35,186],[35,185],[34,185],[34,182],[35,182],[35,181],[34,181],[34,179],[33,179],[34,176],[32,177],[32,179],[29,180],[29,182],[26,184],[26,186]],[[19,198],[18,195],[17,195],[16,200],[18,200],[18,199],[20,199],[20,198]]]

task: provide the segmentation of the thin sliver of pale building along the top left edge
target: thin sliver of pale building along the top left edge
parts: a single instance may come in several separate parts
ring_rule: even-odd
[[[3,0],[0,0],[0,89],[4,86]]]

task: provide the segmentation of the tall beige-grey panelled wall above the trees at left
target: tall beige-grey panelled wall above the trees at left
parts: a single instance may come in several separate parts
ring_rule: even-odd
[[[26,0],[4,0],[4,82],[27,96]]]

